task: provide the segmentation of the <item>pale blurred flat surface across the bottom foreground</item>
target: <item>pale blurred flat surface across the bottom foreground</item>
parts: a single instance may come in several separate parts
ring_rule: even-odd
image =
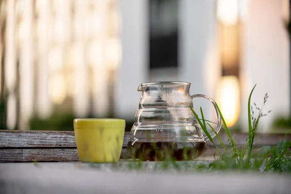
[[[102,165],[96,168],[98,165],[79,162],[0,163],[0,193],[289,194],[291,191],[291,176],[287,175],[105,172],[106,165],[111,164]]]

